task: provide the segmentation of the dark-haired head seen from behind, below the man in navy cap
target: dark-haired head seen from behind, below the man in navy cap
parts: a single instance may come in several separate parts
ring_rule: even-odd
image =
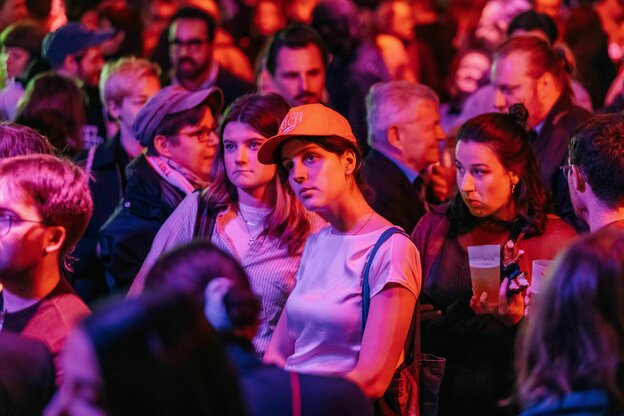
[[[70,78],[37,75],[19,102],[16,123],[40,131],[59,153],[73,157],[84,148],[84,96]]]

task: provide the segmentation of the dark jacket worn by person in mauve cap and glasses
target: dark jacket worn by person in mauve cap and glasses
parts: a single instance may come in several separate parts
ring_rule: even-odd
[[[100,260],[113,291],[126,292],[152,240],[185,194],[162,179],[144,155],[126,168],[126,194],[100,230]]]

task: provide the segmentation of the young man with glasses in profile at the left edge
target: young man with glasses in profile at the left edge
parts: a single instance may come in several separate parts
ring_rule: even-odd
[[[87,176],[72,162],[0,161],[0,327],[45,342],[55,362],[69,330],[89,314],[65,275],[92,210]]]

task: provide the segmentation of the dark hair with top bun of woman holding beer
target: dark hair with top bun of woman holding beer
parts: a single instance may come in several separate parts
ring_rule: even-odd
[[[532,236],[544,232],[547,198],[527,132],[528,114],[522,104],[511,106],[510,114],[481,114],[460,127],[457,142],[484,144],[494,152],[505,170],[518,175],[519,181],[512,193],[517,209],[512,234]],[[460,192],[451,200],[446,215],[451,230],[457,234],[469,232],[485,220],[470,213]]]

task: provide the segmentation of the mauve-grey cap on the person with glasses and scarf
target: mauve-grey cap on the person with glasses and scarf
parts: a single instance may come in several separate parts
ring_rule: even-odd
[[[179,85],[165,87],[150,98],[137,114],[132,124],[134,136],[143,146],[148,146],[165,117],[198,107],[206,101],[221,111],[223,92],[216,87],[198,91],[189,91]]]

